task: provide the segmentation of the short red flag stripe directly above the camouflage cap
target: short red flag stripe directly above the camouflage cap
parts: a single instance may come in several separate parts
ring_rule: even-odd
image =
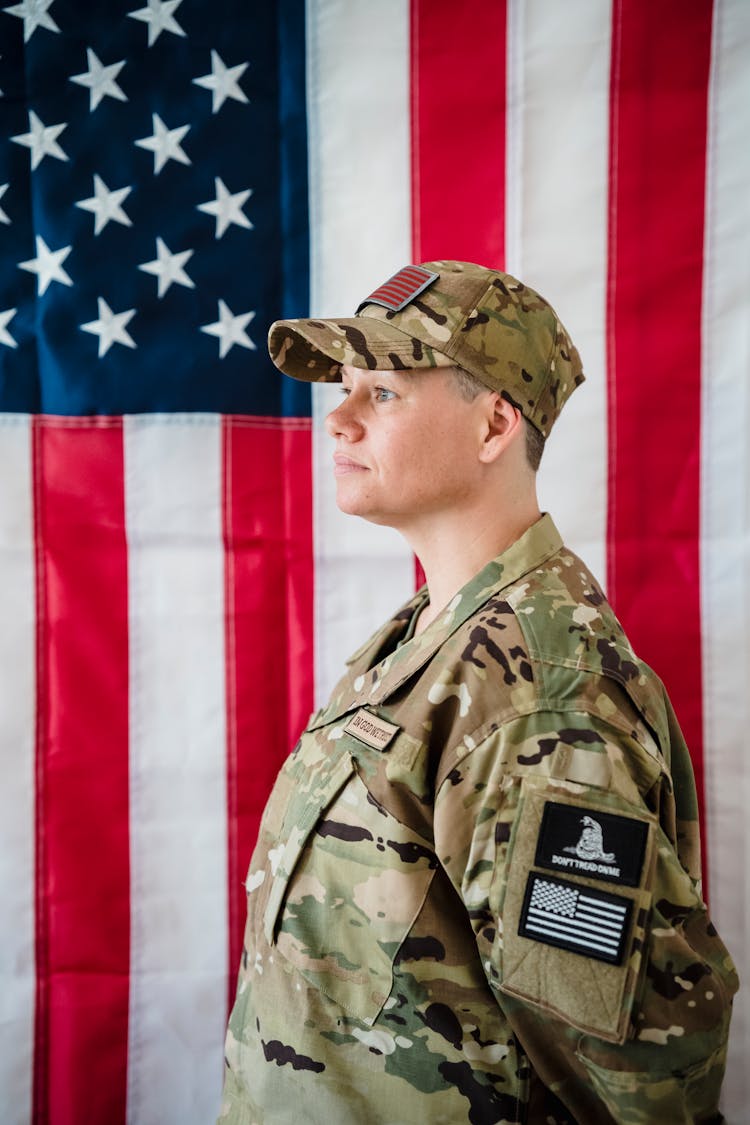
[[[505,0],[412,0],[415,261],[503,264],[505,100]]]

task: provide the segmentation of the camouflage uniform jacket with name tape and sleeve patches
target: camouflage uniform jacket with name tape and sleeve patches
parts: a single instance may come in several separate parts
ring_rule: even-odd
[[[549,516],[408,639],[425,598],[269,800],[220,1119],[721,1120],[737,976],[660,681]]]

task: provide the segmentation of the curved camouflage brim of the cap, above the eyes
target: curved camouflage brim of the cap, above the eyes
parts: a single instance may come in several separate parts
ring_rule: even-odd
[[[421,340],[367,315],[275,321],[269,331],[269,352],[280,371],[305,382],[340,382],[344,364],[372,371],[453,364]]]

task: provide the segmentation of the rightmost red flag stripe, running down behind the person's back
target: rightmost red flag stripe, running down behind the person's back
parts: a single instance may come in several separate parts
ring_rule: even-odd
[[[614,6],[608,593],[703,790],[701,299],[712,4]],[[705,834],[704,834],[705,839]]]

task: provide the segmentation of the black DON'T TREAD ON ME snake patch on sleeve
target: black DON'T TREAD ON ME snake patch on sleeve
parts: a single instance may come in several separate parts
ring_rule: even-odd
[[[648,835],[645,820],[546,801],[534,863],[571,875],[638,886]]]

